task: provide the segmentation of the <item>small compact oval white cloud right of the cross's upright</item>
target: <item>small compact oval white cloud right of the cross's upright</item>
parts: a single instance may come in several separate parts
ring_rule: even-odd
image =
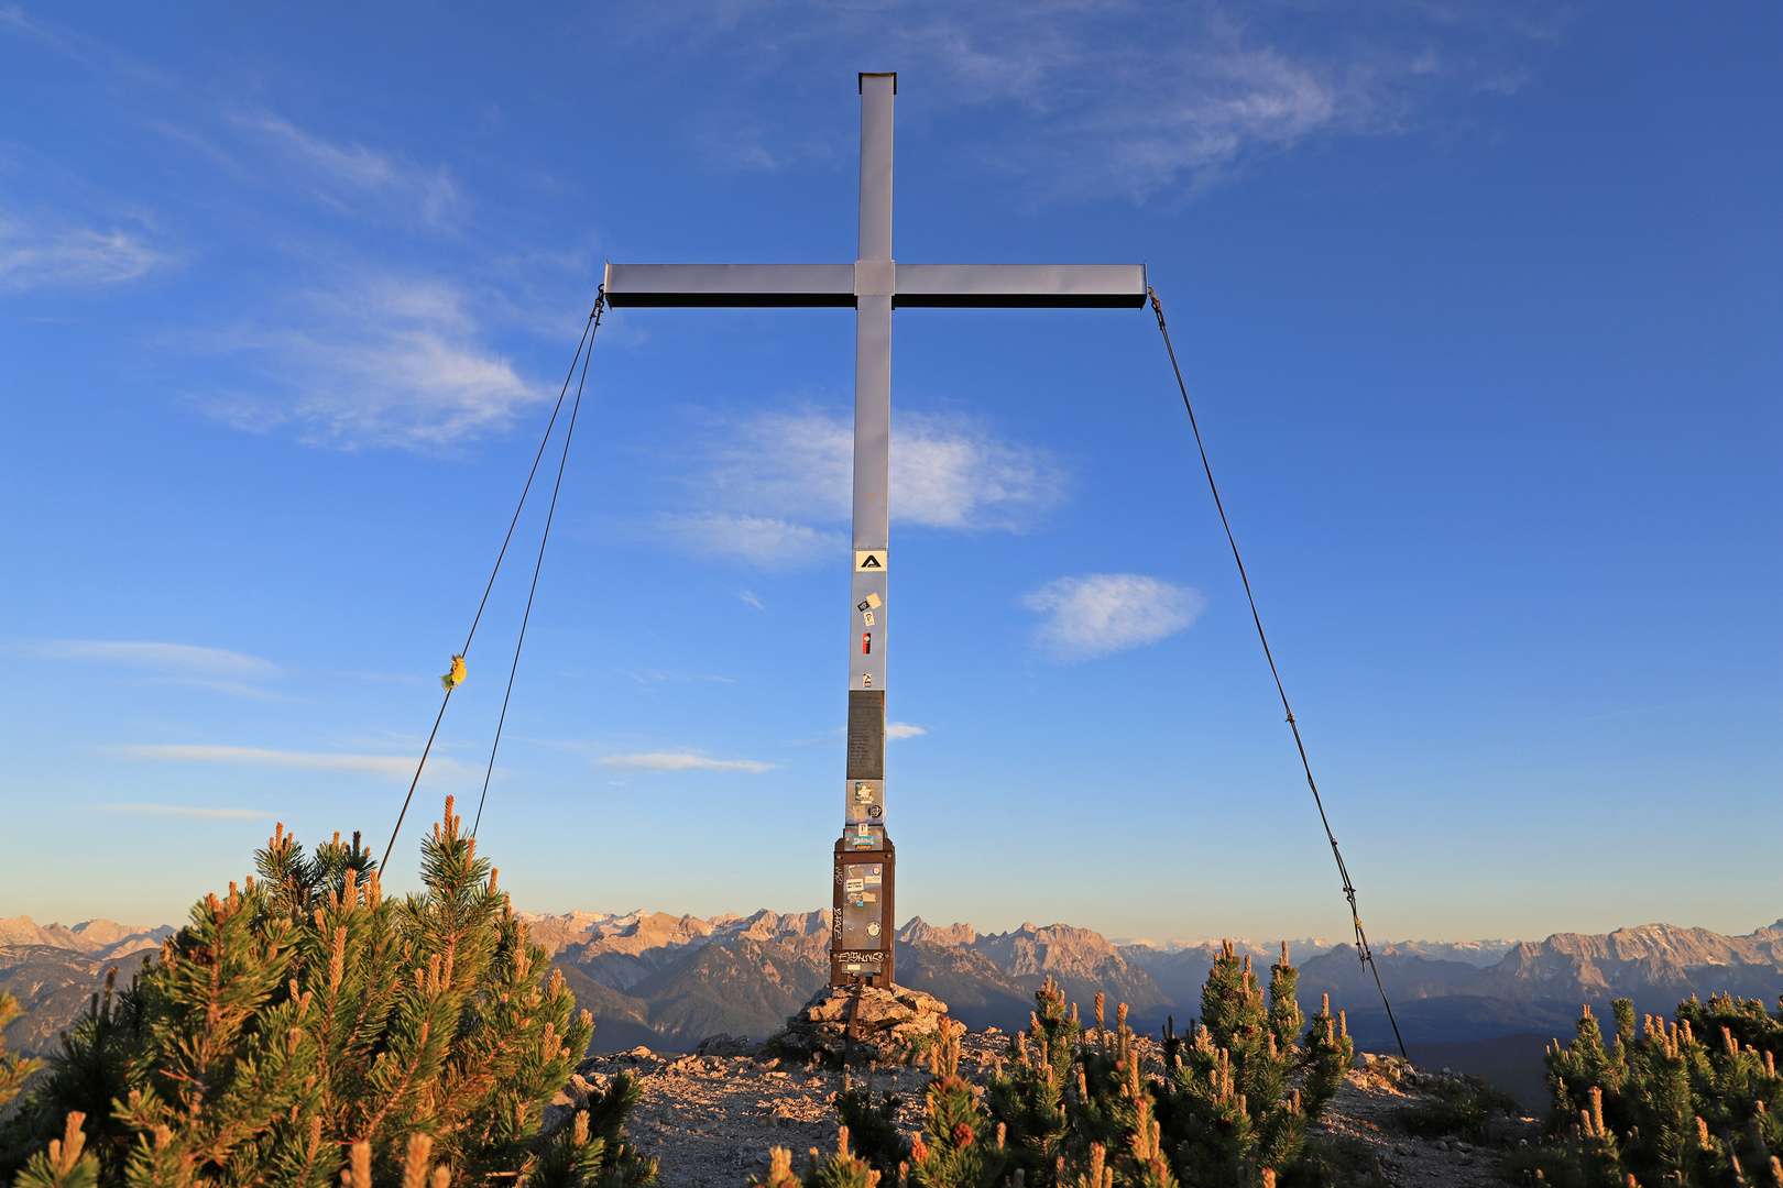
[[[1207,606],[1196,590],[1139,574],[1061,577],[1022,602],[1047,614],[1034,639],[1061,661],[1157,643],[1193,623]]]

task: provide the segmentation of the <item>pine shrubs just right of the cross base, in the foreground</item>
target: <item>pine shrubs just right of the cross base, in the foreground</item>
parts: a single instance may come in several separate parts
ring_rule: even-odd
[[[959,1042],[929,1053],[927,1119],[908,1181],[922,1188],[1314,1186],[1350,1179],[1346,1152],[1312,1147],[1307,1124],[1335,1097],[1355,1058],[1330,1005],[1311,1022],[1298,971],[1271,967],[1268,994],[1227,944],[1202,987],[1189,1035],[1166,1028],[1163,1078],[1148,1074],[1127,1026],[1095,1028],[1048,978],[1027,1031],[1011,1038],[982,1101],[959,1076]],[[768,1184],[767,1188],[781,1188]]]

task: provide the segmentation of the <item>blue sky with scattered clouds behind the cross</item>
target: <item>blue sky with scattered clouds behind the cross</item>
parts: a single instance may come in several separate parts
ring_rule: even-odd
[[[626,9],[640,11],[626,11]],[[382,850],[601,262],[1148,264],[1376,939],[1783,915],[1774,4],[0,9],[0,915]],[[806,910],[845,310],[620,310],[481,826]],[[895,321],[899,915],[1348,919],[1148,312]],[[417,793],[476,798],[542,502]]]

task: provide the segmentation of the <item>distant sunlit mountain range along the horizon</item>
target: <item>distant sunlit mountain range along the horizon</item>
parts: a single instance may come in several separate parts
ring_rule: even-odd
[[[597,1021],[596,1047],[645,1044],[685,1051],[717,1033],[763,1038],[827,976],[826,912],[754,915],[524,914],[533,939]],[[27,1015],[7,1028],[14,1051],[46,1051],[86,1005],[105,969],[153,949],[169,928],[89,921],[39,928],[0,919],[0,990]],[[979,933],[913,919],[897,933],[899,981],[949,1003],[972,1028],[1027,1022],[1034,990],[1057,978],[1088,1015],[1097,990],[1130,1006],[1132,1021],[1179,1026],[1198,1013],[1218,944],[1113,944],[1070,924]],[[1234,942],[1268,967],[1280,942]],[[1393,1047],[1373,978],[1348,944],[1291,940],[1300,999],[1319,994],[1348,1012],[1364,1047]],[[1644,924],[1608,935],[1557,933],[1541,942],[1405,942],[1376,948],[1400,1035],[1410,1046],[1466,1044],[1517,1033],[1565,1037],[1582,1003],[1606,1010],[1631,997],[1639,1012],[1671,1012],[1690,994],[1731,992],[1776,1003],[1783,990],[1783,921],[1744,937]],[[128,972],[128,965],[125,967]]]

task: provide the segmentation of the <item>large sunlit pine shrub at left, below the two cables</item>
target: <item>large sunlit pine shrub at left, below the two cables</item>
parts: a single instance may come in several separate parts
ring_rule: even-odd
[[[421,894],[385,898],[358,835],[305,855],[278,826],[255,867],[259,878],[200,901],[128,990],[114,999],[107,983],[64,1037],[0,1136],[12,1165],[30,1156],[18,1188],[654,1177],[654,1161],[620,1142],[637,1103],[626,1078],[542,1133],[594,1024],[560,974],[546,980],[544,948],[449,798],[423,837]],[[77,1131],[93,1183],[73,1167],[46,1179],[78,1152]]]

